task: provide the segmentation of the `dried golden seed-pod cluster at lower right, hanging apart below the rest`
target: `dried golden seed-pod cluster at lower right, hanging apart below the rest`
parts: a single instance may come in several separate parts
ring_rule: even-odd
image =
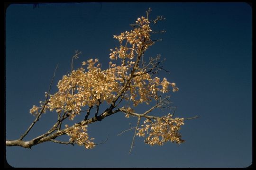
[[[141,128],[138,128],[137,136],[145,137],[146,134],[149,134],[145,139],[145,143],[150,145],[163,145],[167,141],[177,144],[183,143],[184,140],[181,139],[182,136],[179,130],[181,125],[184,125],[184,118],[173,119],[172,116],[172,114],[168,114],[161,119],[155,120],[155,122],[146,119]]]

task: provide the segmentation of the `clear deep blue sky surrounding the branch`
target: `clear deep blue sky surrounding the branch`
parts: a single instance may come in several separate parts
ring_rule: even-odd
[[[110,49],[119,46],[114,34],[130,31],[129,24],[145,16],[166,19],[153,26],[162,42],[145,57],[166,58],[162,72],[180,88],[170,93],[176,117],[186,120],[184,144],[144,144],[137,137],[128,154],[137,119],[115,114],[93,123],[88,131],[96,143],[92,150],[51,142],[32,150],[7,147],[13,167],[247,167],[252,162],[252,9],[247,3],[66,3],[11,5],[6,12],[6,137],[18,139],[35,119],[32,105],[44,100],[54,80],[70,71],[75,50],[82,51],[75,66],[98,58],[108,67]],[[102,108],[103,110],[104,108]],[[138,107],[137,111],[143,111]],[[157,114],[157,113],[155,113]],[[24,140],[46,132],[56,113],[44,114]],[[78,122],[75,119],[74,122]],[[74,123],[74,122],[68,122]],[[68,140],[67,136],[60,139]]]

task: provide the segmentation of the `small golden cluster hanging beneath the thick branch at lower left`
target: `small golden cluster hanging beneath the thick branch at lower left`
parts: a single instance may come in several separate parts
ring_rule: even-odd
[[[65,125],[65,127],[68,127],[68,125]],[[95,144],[91,142],[94,138],[89,139],[87,134],[87,125],[81,126],[75,124],[74,127],[68,129],[66,133],[70,136],[69,142],[77,143],[80,146],[84,145],[86,149],[92,149],[95,147]]]

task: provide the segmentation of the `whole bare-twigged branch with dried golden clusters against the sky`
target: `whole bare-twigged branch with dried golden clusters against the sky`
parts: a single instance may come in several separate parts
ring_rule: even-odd
[[[117,112],[125,113],[126,118],[130,116],[138,118],[137,127],[131,129],[135,128],[134,137],[136,134],[143,137],[148,135],[145,139],[146,144],[162,145],[167,141],[177,144],[183,143],[184,140],[181,138],[179,130],[184,124],[184,118],[173,119],[173,114],[163,117],[158,117],[157,114],[156,116],[147,115],[156,108],[172,109],[169,106],[170,96],[163,97],[162,94],[168,93],[169,87],[172,88],[173,92],[179,90],[175,83],[170,83],[166,78],[161,80],[155,76],[159,70],[165,70],[159,66],[162,62],[160,55],[150,58],[147,62],[143,60],[145,51],[155,42],[161,41],[152,40],[151,34],[165,32],[164,30],[160,32],[151,30],[151,23],[156,24],[165,18],[161,16],[155,20],[149,20],[150,11],[150,8],[146,11],[146,17],[137,18],[136,23],[131,25],[133,27],[131,31],[114,35],[114,38],[119,41],[119,48],[110,49],[110,59],[113,61],[109,62],[107,69],[101,69],[98,59],[88,59],[82,62],[81,68],[73,69],[73,59],[77,59],[78,55],[81,54],[81,52],[75,51],[72,58],[71,73],[64,75],[59,80],[56,93],[49,94],[49,91],[46,92],[46,100],[40,102],[40,107],[33,105],[30,113],[37,116],[37,119],[19,138],[19,141],[22,141],[23,137],[27,135],[43,112],[55,111],[58,115],[55,125],[46,134],[31,140],[33,141],[31,146],[52,141],[60,144],[84,145],[85,148],[91,149],[95,144],[92,142],[93,138],[89,138],[87,134],[88,124],[101,121]],[[102,102],[108,103],[109,108],[98,116]],[[137,105],[154,102],[155,105],[144,113],[134,112]],[[64,129],[61,129],[64,119],[73,120],[76,115],[81,114],[84,107],[88,108],[84,120],[72,127],[66,125]],[[96,108],[95,116],[89,119],[93,108]],[[146,120],[139,128],[141,118]],[[57,136],[64,134],[70,136],[69,142],[54,140]],[[134,144],[134,137],[131,149]]]

